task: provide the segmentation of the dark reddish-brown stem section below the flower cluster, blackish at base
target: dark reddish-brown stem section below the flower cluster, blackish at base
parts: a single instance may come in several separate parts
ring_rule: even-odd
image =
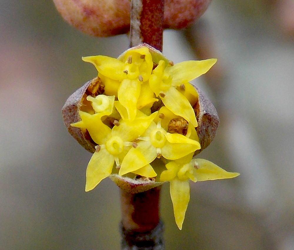
[[[131,194],[121,189],[122,250],[163,250],[159,221],[160,187]]]

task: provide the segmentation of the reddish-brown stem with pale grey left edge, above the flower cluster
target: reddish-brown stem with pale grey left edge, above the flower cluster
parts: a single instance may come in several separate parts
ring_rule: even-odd
[[[164,0],[131,0],[130,47],[148,43],[162,51]]]

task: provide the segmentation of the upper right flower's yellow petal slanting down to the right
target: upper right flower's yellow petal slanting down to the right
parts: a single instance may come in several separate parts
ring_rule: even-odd
[[[163,104],[174,114],[182,116],[194,127],[197,127],[195,112],[185,96],[183,96],[176,88],[171,87],[165,92],[165,97],[161,98]]]

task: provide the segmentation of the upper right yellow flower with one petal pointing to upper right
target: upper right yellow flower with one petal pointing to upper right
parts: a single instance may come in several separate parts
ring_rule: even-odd
[[[206,73],[215,63],[216,59],[207,59],[186,61],[171,66],[160,60],[149,79],[150,88],[156,96],[160,96],[163,104],[174,114],[182,116],[194,127],[197,127],[191,103],[176,87],[185,88],[189,81]],[[194,92],[196,91],[194,90]]]

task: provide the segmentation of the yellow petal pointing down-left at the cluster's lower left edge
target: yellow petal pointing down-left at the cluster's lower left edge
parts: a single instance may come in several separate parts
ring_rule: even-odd
[[[100,149],[92,155],[86,170],[86,192],[92,190],[111,174],[113,163],[114,157],[106,149]]]

